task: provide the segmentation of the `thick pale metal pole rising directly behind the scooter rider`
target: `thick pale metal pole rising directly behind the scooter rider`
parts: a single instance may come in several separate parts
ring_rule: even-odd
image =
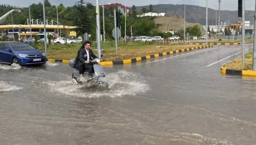
[[[97,48],[98,48],[98,58],[101,58],[101,43],[100,43],[100,8],[99,0],[96,0],[96,20],[97,20]]]

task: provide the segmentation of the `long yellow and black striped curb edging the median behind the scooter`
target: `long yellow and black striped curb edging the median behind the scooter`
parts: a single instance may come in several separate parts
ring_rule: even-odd
[[[147,56],[143,56],[143,57],[126,59],[126,60],[103,61],[103,62],[99,62],[99,64],[101,64],[103,66],[105,66],[105,65],[117,65],[117,64],[129,64],[129,63],[137,62],[137,61],[141,61],[141,60],[147,60],[147,59],[151,59],[151,58],[157,58],[157,57],[161,57],[161,56],[177,54],[177,53],[180,53],[180,52],[186,52],[186,51],[202,49],[202,48],[209,48],[209,47],[213,47],[213,46],[212,45],[207,45],[207,46],[191,47],[191,48],[185,48],[185,49],[180,49],[180,50],[173,50],[173,51],[163,52],[163,53],[154,54],[154,55],[147,55]],[[58,59],[47,59],[47,61],[62,62],[62,63],[68,63],[69,62],[69,60],[58,60]]]

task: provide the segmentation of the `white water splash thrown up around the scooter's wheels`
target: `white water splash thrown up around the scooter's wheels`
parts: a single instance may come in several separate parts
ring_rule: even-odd
[[[44,82],[49,85],[50,91],[58,95],[73,97],[120,97],[122,95],[135,95],[149,89],[143,76],[135,72],[121,70],[107,74],[109,79],[108,90],[103,86],[94,84],[76,85],[73,80]]]

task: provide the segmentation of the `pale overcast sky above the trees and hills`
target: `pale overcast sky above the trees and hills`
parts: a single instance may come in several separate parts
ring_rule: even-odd
[[[52,4],[63,3],[64,6],[72,6],[74,5],[74,2],[78,0],[49,0]],[[38,3],[43,2],[43,0],[30,0],[31,3]],[[96,4],[96,0],[85,0],[85,2],[91,2],[93,5]],[[125,5],[125,0],[104,0],[104,4],[107,3],[122,3]],[[245,0],[246,10],[255,10],[255,0]],[[3,2],[1,0],[1,4],[9,4],[12,6],[20,6],[20,7],[27,7],[29,0],[8,0]],[[102,0],[99,0],[100,5],[102,4]],[[206,7],[206,0],[127,0],[127,6],[130,7],[133,4],[135,6],[145,6],[149,4],[191,4],[191,5],[198,5],[202,7]],[[221,1],[221,10],[237,10],[238,8],[238,0],[222,0]],[[208,0],[208,8],[218,9],[218,0]]]

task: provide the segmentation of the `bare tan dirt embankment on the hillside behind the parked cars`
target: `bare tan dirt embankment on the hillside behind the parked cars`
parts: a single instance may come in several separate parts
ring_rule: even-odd
[[[154,21],[156,24],[158,24],[158,29],[162,32],[171,30],[176,32],[180,29],[184,29],[184,19],[182,18],[182,16],[156,17]],[[186,27],[194,26],[196,24],[199,26],[199,28],[201,27],[202,35],[204,35],[205,30],[200,23],[188,23],[187,21],[185,21]]]

